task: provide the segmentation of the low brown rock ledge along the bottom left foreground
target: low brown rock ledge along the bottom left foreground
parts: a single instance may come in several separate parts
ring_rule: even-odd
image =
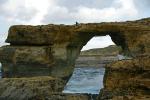
[[[65,82],[49,76],[4,78],[0,100],[91,100],[87,94],[63,94]]]

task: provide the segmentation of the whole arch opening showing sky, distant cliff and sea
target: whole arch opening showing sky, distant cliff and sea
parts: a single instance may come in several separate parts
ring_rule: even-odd
[[[63,93],[99,94],[103,88],[105,65],[118,60],[121,48],[109,35],[95,36],[81,49],[74,72]]]

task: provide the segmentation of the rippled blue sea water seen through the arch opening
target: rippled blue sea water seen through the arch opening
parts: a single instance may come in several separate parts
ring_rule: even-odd
[[[103,88],[104,68],[75,68],[63,93],[99,94]]]

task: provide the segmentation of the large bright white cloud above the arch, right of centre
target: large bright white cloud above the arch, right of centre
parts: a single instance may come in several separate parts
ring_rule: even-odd
[[[66,0],[63,1],[67,2]],[[105,3],[109,5],[103,6],[102,8],[92,6],[93,3],[90,1],[91,0],[87,0],[86,3],[83,3],[85,1],[75,2],[71,4],[71,7],[67,3],[64,2],[60,3],[60,5],[57,5],[55,8],[53,8],[51,12],[47,13],[45,19],[43,20],[43,23],[48,22],[73,23],[75,21],[79,22],[122,21],[135,19],[136,16],[138,15],[138,11],[134,5],[133,0],[126,0],[126,1],[112,0],[113,2],[106,0]],[[97,3],[94,2],[94,4],[98,4],[99,2],[98,1]],[[110,5],[110,3],[112,4]]]

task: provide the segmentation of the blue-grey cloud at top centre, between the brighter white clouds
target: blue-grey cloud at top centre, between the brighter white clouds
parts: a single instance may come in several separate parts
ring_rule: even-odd
[[[60,10],[47,13],[43,23],[74,23],[77,20],[79,7],[103,9],[112,6],[113,2],[114,0],[56,0],[56,5],[60,7]],[[66,12],[63,11],[64,8],[67,10]]]

